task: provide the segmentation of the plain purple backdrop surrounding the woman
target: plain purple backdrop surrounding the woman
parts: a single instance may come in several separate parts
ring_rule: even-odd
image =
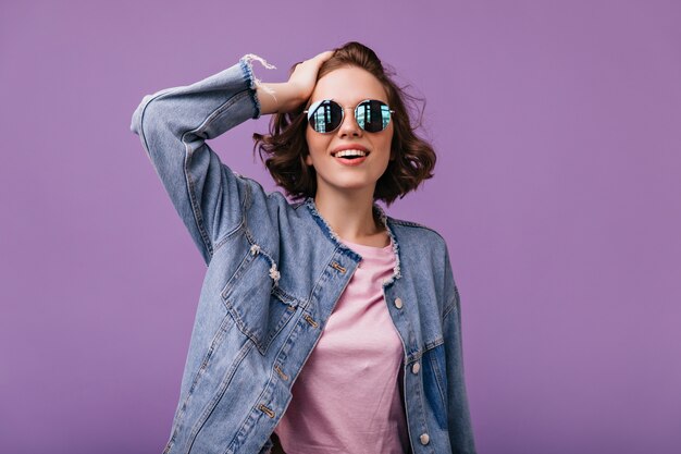
[[[238,3],[238,5],[235,5]],[[359,40],[426,100],[480,453],[681,452],[678,1],[4,1],[3,453],[160,453],[206,271],[146,94]],[[246,122],[210,144],[274,189]]]

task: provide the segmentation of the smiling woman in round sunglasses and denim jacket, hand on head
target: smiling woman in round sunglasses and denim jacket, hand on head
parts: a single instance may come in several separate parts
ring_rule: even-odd
[[[247,54],[133,115],[208,271],[164,453],[474,453],[459,294],[445,241],[387,205],[435,155],[368,47],[262,83]],[[255,134],[295,203],[206,144]],[[305,366],[305,367],[304,367]]]

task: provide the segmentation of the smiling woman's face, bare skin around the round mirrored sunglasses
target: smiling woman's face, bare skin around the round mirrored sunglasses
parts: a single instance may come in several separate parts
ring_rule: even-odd
[[[317,82],[308,106],[322,99],[333,99],[346,108],[343,123],[332,133],[320,134],[308,124],[306,138],[310,154],[306,163],[317,172],[317,191],[370,192],[391,160],[393,119],[377,133],[368,133],[355,120],[355,107],[364,99],[388,103],[385,89],[371,73],[357,66],[332,71]],[[367,150],[366,158],[356,160],[335,157],[338,148]]]

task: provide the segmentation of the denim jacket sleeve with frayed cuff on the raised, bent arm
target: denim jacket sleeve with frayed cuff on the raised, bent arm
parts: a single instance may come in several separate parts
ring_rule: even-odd
[[[207,139],[260,116],[250,59],[188,86],[147,95],[133,113],[157,174],[208,265],[214,245],[237,229],[249,191],[245,179],[221,162]]]

